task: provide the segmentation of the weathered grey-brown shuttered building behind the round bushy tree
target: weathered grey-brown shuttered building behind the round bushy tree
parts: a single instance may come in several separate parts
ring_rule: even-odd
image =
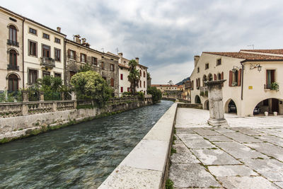
[[[86,42],[85,38],[74,35],[74,40],[65,40],[66,44],[66,67],[65,79],[67,85],[70,85],[71,77],[76,74],[83,65],[90,65],[93,71],[98,72],[112,88],[113,96],[119,94],[119,68],[117,55],[108,52],[93,50]]]

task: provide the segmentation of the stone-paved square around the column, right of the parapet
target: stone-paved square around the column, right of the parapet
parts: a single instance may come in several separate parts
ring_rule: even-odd
[[[283,118],[209,127],[207,110],[178,108],[169,178],[174,188],[283,188]],[[241,127],[237,127],[241,126]]]

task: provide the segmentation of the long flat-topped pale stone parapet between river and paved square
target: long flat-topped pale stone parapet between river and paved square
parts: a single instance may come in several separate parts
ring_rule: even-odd
[[[176,112],[173,103],[99,189],[165,188]]]

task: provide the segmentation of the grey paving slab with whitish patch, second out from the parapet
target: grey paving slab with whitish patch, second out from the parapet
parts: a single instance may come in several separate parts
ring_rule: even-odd
[[[220,149],[192,149],[192,153],[195,154],[204,165],[241,164],[240,161]]]

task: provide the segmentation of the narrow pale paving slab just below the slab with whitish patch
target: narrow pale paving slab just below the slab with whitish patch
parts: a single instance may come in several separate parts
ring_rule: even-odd
[[[208,166],[210,173],[216,177],[221,176],[258,176],[252,169],[244,165]]]

